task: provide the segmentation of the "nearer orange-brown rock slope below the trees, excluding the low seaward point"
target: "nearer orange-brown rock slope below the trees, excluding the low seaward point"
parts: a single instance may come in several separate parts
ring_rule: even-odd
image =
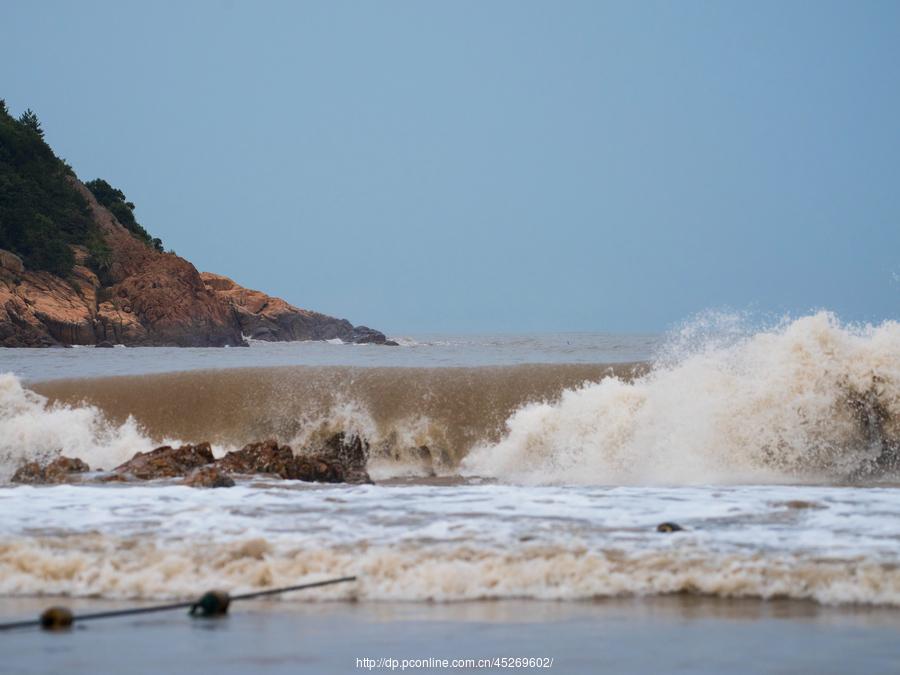
[[[230,305],[209,291],[197,269],[135,239],[74,178],[110,247],[103,286],[84,266],[87,251],[73,246],[77,264],[63,279],[25,270],[0,252],[0,345],[96,344],[223,346],[244,344]]]

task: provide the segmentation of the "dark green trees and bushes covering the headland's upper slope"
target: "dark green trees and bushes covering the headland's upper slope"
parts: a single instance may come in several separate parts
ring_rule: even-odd
[[[29,109],[16,119],[0,99],[0,248],[20,256],[28,269],[66,276],[75,264],[71,245],[84,246],[88,265],[102,277],[110,250],[74,177],[44,141],[37,115]],[[137,239],[162,250],[121,190],[102,179],[87,187]]]

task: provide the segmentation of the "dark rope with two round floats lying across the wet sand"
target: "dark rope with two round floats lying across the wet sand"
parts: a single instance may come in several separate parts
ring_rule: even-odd
[[[76,621],[92,621],[94,619],[111,619],[119,616],[133,616],[135,614],[150,614],[153,612],[167,612],[173,609],[190,609],[191,616],[222,616],[228,613],[228,606],[234,600],[250,600],[251,598],[262,598],[267,595],[278,595],[280,593],[288,593],[290,591],[302,591],[307,588],[318,588],[320,586],[331,586],[332,584],[342,584],[348,581],[356,581],[356,577],[338,577],[336,579],[328,579],[326,581],[314,581],[308,584],[300,584],[298,586],[284,586],[283,588],[270,588],[265,591],[255,591],[253,593],[241,593],[240,595],[229,595],[225,591],[208,591],[204,593],[198,600],[193,602],[174,602],[168,605],[154,605],[152,607],[132,607],[130,609],[119,609],[109,612],[93,612],[91,614],[72,614],[67,607],[50,607],[46,609],[40,618],[29,621],[13,621],[10,623],[0,623],[0,630],[12,630],[14,628],[33,628],[40,626],[44,630],[64,630],[71,628]]]

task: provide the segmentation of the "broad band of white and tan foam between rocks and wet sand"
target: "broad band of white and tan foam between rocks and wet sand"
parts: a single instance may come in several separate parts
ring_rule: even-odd
[[[886,489],[61,486],[0,489],[0,509],[4,594],[190,598],[354,574],[296,599],[900,605]]]

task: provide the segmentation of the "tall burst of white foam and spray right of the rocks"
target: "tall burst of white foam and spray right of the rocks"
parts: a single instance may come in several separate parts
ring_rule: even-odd
[[[535,483],[840,478],[898,440],[900,324],[822,312],[747,337],[690,324],[644,377],[522,407],[463,470]]]

